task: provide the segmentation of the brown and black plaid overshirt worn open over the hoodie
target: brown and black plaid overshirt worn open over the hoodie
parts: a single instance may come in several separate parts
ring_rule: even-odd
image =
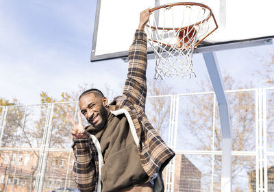
[[[175,153],[166,146],[145,115],[147,97],[147,35],[136,30],[134,42],[129,48],[129,67],[123,95],[115,97],[111,111],[127,110],[138,136],[140,163],[152,178],[162,171]],[[92,138],[74,139],[75,165],[73,172],[80,191],[96,191],[99,177],[99,157]]]

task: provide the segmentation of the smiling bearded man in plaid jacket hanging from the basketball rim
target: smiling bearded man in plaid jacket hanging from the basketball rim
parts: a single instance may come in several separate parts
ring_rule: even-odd
[[[147,96],[147,36],[149,9],[129,48],[129,67],[123,95],[108,99],[97,89],[79,97],[79,107],[90,125],[73,124],[73,172],[80,191],[164,191],[162,170],[175,155],[145,115]]]

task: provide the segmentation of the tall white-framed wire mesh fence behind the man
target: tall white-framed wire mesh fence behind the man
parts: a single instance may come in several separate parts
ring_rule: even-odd
[[[274,191],[274,88],[227,91],[232,191]],[[76,189],[70,112],[77,102],[0,107],[0,191]],[[176,156],[166,191],[221,191],[221,125],[214,93],[147,97],[147,117]],[[84,122],[87,125],[87,122]],[[266,179],[267,178],[267,179]]]

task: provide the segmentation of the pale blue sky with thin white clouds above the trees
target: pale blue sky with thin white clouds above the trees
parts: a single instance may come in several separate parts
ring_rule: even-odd
[[[127,64],[121,59],[90,62],[95,22],[95,0],[0,0],[0,98],[39,104],[39,94],[60,98],[78,85],[108,84],[121,93]],[[129,45],[132,42],[129,42]],[[274,45],[217,51],[219,67],[243,83],[266,87],[260,76],[262,62],[271,60]],[[197,77],[168,79],[174,93],[195,93],[208,78],[202,54],[193,56]],[[147,77],[153,79],[155,60],[149,60]],[[254,87],[250,87],[254,88]]]

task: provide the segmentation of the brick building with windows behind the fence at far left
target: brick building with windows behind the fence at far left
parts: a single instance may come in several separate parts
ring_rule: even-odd
[[[72,176],[72,163],[69,153],[49,152],[42,191],[60,187],[76,188]],[[39,152],[1,151],[0,191],[34,191],[39,165]]]

